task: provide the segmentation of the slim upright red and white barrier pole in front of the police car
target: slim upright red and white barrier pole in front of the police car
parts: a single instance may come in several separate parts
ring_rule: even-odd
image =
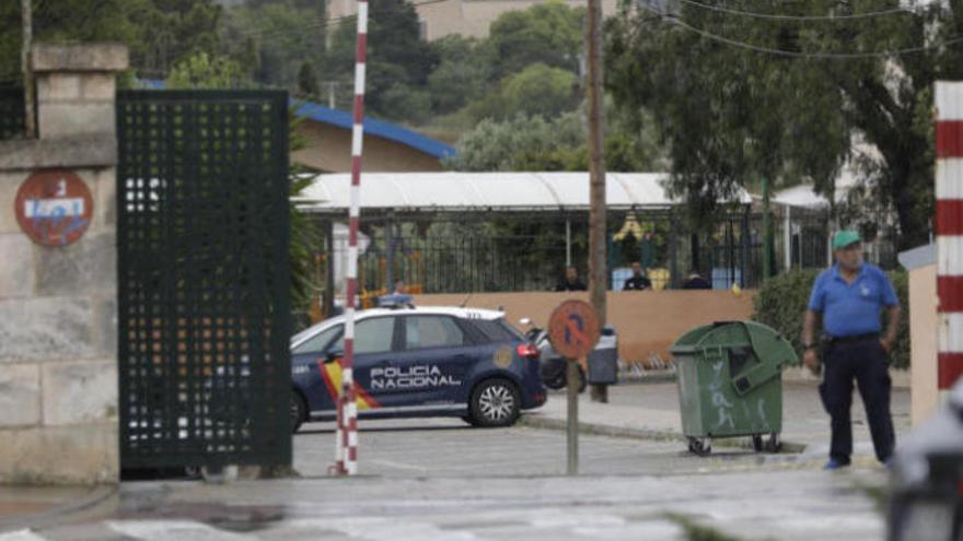
[[[358,473],[358,402],[355,397],[355,297],[358,293],[358,222],[360,221],[361,149],[364,137],[364,61],[368,48],[368,1],[358,0],[355,50],[355,126],[351,132],[351,208],[348,213],[348,274],[345,301],[345,357],[338,401],[338,474]]]

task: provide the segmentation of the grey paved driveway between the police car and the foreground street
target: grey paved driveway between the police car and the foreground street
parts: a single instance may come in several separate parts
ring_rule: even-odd
[[[677,440],[582,435],[579,444],[580,472],[593,475],[803,467],[796,464],[798,457],[740,449],[720,448],[700,458]],[[361,473],[386,477],[558,475],[566,466],[564,432],[526,426],[481,430],[461,420],[362,423],[359,451]],[[306,425],[294,436],[294,468],[302,475],[325,475],[333,461],[330,423]]]

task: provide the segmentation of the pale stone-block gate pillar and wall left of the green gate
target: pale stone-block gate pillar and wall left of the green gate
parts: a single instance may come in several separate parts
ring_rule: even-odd
[[[0,483],[119,477],[114,79],[118,45],[37,45],[37,140],[0,141]],[[86,184],[93,215],[67,246],[35,244],[14,216],[33,173]]]

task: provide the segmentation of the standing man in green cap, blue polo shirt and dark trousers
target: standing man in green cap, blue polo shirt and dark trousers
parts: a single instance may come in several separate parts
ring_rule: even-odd
[[[833,436],[825,469],[849,466],[852,454],[852,381],[866,405],[877,459],[889,464],[896,437],[890,416],[889,352],[896,341],[900,301],[879,267],[862,261],[859,234],[840,231],[833,236],[836,263],[813,284],[802,329],[803,362],[813,373],[824,368],[820,396],[832,419]],[[880,313],[889,322],[881,336]],[[822,319],[822,348],[814,329]],[[822,357],[822,360],[820,358]]]

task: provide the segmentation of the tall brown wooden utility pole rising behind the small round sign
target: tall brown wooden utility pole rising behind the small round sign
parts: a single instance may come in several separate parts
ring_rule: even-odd
[[[599,315],[600,328],[605,326],[605,293],[608,269],[605,258],[605,154],[602,118],[602,4],[589,0],[589,303]],[[569,385],[576,385],[569,381]],[[608,386],[593,385],[592,400],[608,401]]]

